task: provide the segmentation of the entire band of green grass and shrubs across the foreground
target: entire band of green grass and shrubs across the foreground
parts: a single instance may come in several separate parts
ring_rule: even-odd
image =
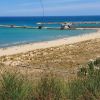
[[[20,73],[1,75],[0,100],[100,100],[100,59],[78,70],[74,80],[47,73],[38,82]],[[34,85],[34,83],[36,83]]]

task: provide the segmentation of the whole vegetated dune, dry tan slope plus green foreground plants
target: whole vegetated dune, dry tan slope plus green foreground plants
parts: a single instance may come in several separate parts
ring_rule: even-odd
[[[100,100],[99,54],[95,39],[2,56],[0,100]]]

